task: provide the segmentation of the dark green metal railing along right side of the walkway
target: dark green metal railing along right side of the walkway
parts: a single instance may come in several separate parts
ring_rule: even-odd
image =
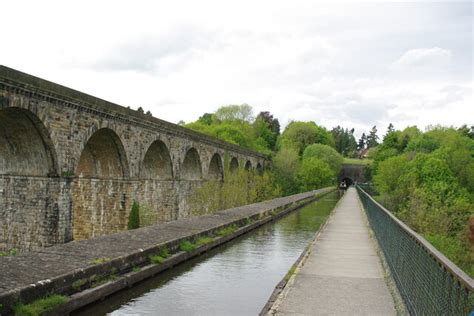
[[[470,314],[473,280],[360,186],[357,192],[409,313]]]

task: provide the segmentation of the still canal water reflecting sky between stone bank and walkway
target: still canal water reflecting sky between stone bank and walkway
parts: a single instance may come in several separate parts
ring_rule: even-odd
[[[330,193],[75,315],[257,315],[336,202]]]

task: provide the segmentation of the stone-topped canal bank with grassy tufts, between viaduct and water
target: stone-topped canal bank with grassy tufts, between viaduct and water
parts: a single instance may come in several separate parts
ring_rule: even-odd
[[[327,188],[182,219],[90,240],[71,242],[14,257],[1,257],[2,314],[18,303],[50,294],[66,295],[56,311],[67,313],[149,278],[307,204]],[[199,247],[199,238],[212,236]],[[194,244],[183,250],[183,242]],[[171,254],[159,264],[163,248]],[[163,257],[166,257],[163,255]]]

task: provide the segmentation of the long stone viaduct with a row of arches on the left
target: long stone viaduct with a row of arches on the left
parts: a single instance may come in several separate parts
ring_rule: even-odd
[[[0,66],[0,250],[124,230],[134,200],[155,222],[183,218],[203,181],[266,163],[253,151]]]

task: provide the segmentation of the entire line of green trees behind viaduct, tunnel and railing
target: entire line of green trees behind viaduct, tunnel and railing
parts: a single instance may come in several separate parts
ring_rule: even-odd
[[[272,159],[263,177],[240,172],[228,176],[227,183],[198,190],[200,205],[219,201],[207,209],[335,185],[345,157],[367,157],[366,175],[375,198],[474,275],[474,240],[468,235],[469,219],[474,222],[474,126],[432,126],[422,132],[416,126],[396,130],[389,124],[382,139],[373,126],[356,140],[354,129],[327,130],[315,122],[293,121],[281,132],[270,112],[254,116],[247,104],[223,106],[183,125]],[[232,194],[236,190],[242,191],[239,199]]]

